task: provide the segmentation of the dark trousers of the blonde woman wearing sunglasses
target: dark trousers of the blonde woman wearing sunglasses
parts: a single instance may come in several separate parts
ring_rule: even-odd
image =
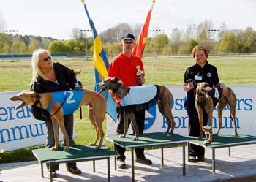
[[[53,124],[51,121],[45,121],[46,129],[47,129],[47,136],[46,136],[46,147],[51,148],[54,146],[55,140],[54,140],[54,132],[53,132]],[[74,118],[73,115],[65,115],[64,116],[64,125],[67,130],[67,134],[69,135],[69,145],[73,146],[75,145],[73,137],[73,127],[74,127]],[[67,162],[67,168],[68,167],[76,167],[75,162]],[[48,163],[46,163],[46,167],[49,170],[50,167]],[[53,171],[59,170],[59,164],[52,164],[51,168]]]

